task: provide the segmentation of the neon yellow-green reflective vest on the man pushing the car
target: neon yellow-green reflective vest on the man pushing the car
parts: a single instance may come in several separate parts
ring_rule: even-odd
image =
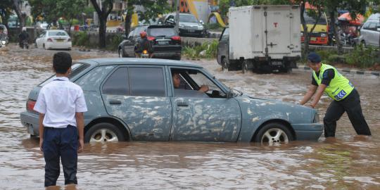
[[[321,84],[323,79],[323,73],[325,70],[333,69],[334,70],[334,78],[331,80],[329,86],[327,86],[326,89],[324,89],[324,92],[331,97],[331,99],[334,99],[336,101],[341,101],[348,96],[348,94],[353,91],[354,87],[353,84],[346,78],[341,75],[341,73],[336,70],[331,65],[323,64],[321,65],[321,69],[319,70],[319,76],[317,76],[317,73],[315,71],[312,72],[312,77],[314,77],[315,81],[318,85]]]

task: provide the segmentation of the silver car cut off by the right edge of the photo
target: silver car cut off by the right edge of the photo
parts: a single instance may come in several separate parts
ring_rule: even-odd
[[[363,46],[379,46],[380,39],[380,13],[369,16],[365,24],[360,29],[359,42]]]

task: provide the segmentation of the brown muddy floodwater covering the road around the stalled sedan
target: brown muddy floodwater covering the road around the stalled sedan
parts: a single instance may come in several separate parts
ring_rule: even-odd
[[[0,189],[43,189],[44,158],[20,123],[29,91],[52,75],[56,51],[0,49]],[[74,59],[116,53],[70,51]],[[222,72],[196,61],[229,87],[256,97],[300,101],[310,72],[258,75]],[[336,139],[263,147],[236,143],[120,142],[85,144],[77,189],[380,189],[380,79],[345,74],[360,92],[372,137],[355,134],[346,114]],[[331,100],[323,96],[320,119]],[[63,185],[63,172],[57,184]],[[58,188],[59,189],[59,188]],[[72,188],[68,188],[72,189]]]

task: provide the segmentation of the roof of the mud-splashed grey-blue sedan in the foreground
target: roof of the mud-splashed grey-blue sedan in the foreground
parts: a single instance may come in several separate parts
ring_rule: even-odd
[[[99,65],[168,65],[203,68],[201,65],[195,63],[158,58],[90,58],[79,60],[78,62],[89,64],[97,63]]]

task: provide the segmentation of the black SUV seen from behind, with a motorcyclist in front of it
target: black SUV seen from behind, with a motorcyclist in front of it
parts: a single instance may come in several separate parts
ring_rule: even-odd
[[[134,57],[134,45],[140,39],[140,32],[146,31],[153,46],[153,58],[181,59],[181,38],[172,25],[138,26],[129,32],[118,47],[119,57]]]

